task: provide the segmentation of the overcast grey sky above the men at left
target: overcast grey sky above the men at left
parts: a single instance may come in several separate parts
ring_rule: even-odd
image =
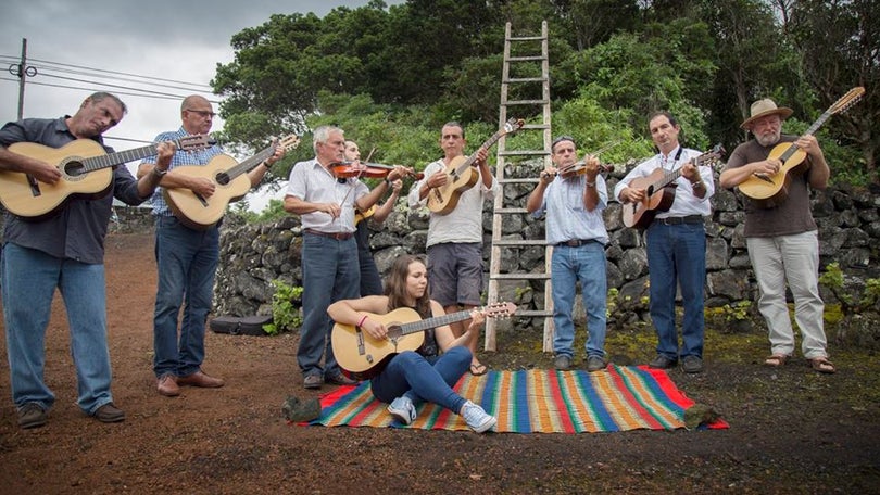
[[[124,94],[123,88],[48,77],[49,73],[75,79],[100,80],[91,69],[171,79],[199,85],[204,96],[216,100],[206,85],[217,63],[232,61],[229,40],[246,27],[259,26],[272,14],[313,12],[323,17],[336,7],[362,7],[367,0],[3,0],[0,7],[0,125],[17,119],[18,79],[10,74],[27,39],[27,59],[34,65],[46,61],[70,64],[74,73],[47,69],[47,75],[27,81],[86,89],[65,89],[37,84],[25,85],[24,117],[60,117],[73,114],[81,101],[97,89],[120,94],[128,114],[106,136],[152,141],[161,131],[180,126],[180,100]],[[388,4],[401,1],[386,1]],[[92,75],[90,75],[92,74]],[[106,74],[103,74],[106,77]],[[124,76],[127,77],[127,76]],[[141,79],[142,80],[142,79]],[[172,94],[191,94],[184,89],[163,88],[124,80],[105,84],[139,87]],[[164,82],[181,86],[174,82]],[[216,105],[215,105],[216,109]],[[216,119],[213,130],[221,130]],[[139,142],[108,140],[117,151],[144,145]],[[129,168],[131,168],[129,166]]]

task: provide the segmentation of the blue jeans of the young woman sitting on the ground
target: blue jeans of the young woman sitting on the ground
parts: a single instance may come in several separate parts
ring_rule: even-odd
[[[373,395],[390,403],[406,395],[418,406],[423,402],[438,404],[456,415],[467,402],[452,386],[470,366],[470,351],[452,347],[440,356],[425,357],[404,351],[391,358],[381,373],[370,380]]]

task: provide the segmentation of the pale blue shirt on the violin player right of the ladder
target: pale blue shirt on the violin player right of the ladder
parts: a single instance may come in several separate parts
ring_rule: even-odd
[[[605,220],[602,218],[602,212],[608,205],[605,179],[601,175],[595,177],[599,202],[592,212],[583,206],[586,187],[587,176],[583,175],[568,179],[557,176],[546,187],[541,206],[532,215],[539,217],[546,212],[544,230],[548,244],[575,240],[595,240],[602,245],[608,243],[608,231],[605,229]]]

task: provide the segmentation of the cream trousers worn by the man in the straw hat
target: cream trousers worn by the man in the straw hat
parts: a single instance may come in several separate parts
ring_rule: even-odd
[[[785,303],[788,280],[794,295],[794,321],[803,337],[801,352],[807,359],[827,357],[825,303],[819,295],[818,231],[749,238],[746,245],[760,290],[758,309],[769,329],[770,352],[787,356],[794,352],[794,331]]]

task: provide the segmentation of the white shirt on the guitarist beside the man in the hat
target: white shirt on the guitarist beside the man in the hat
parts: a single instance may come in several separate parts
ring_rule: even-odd
[[[680,155],[678,153],[679,150],[681,150]],[[676,147],[676,149],[670,151],[668,155],[657,153],[655,156],[640,163],[638,166],[636,166],[636,168],[630,170],[626,177],[617,182],[617,186],[614,188],[614,199],[619,201],[620,192],[624,190],[624,188],[628,187],[629,182],[631,182],[633,179],[648,177],[659,167],[663,167],[665,173],[675,172],[676,169],[681,168],[681,166],[688,163],[688,161],[696,158],[701,154],[702,153],[700,151],[691,150],[689,148],[682,149],[681,147]],[[676,156],[678,156],[678,160],[676,160]],[[693,194],[693,186],[691,185],[691,181],[686,179],[683,176],[680,176],[675,180],[678,187],[676,187],[676,199],[672,201],[672,206],[668,212],[657,212],[656,218],[683,217],[689,215],[712,215],[712,203],[709,203],[709,198],[715,194],[715,181],[713,180],[712,167],[708,165],[700,165],[697,169],[700,170],[700,177],[703,179],[703,183],[705,185],[706,194],[703,198],[696,198]]]

